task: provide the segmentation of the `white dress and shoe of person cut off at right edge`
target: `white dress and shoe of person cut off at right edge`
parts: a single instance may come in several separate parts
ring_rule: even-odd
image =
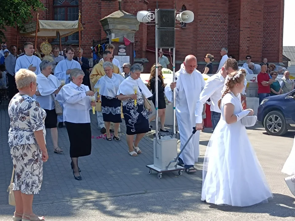
[[[282,172],[289,175],[289,177],[285,178],[285,181],[290,191],[295,196],[295,138],[293,142],[293,148],[283,166]]]

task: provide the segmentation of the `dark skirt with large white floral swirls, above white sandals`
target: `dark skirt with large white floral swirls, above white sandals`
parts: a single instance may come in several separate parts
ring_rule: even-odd
[[[151,131],[149,126],[149,115],[144,107],[144,99],[137,95],[137,105],[129,98],[123,101],[123,115],[126,124],[126,134],[145,134]]]

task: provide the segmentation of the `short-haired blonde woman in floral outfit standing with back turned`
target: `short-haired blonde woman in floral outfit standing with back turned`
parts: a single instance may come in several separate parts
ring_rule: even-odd
[[[38,194],[43,179],[43,162],[48,159],[44,121],[46,112],[33,99],[36,92],[36,74],[20,69],[15,74],[19,93],[8,107],[10,129],[8,144],[15,169],[13,194],[14,221],[45,220],[32,212],[34,194]]]

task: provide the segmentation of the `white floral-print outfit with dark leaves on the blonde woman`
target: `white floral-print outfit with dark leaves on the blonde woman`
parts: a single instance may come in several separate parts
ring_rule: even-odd
[[[15,169],[13,190],[27,195],[38,194],[43,179],[43,161],[34,131],[43,130],[45,140],[46,112],[31,96],[17,93],[9,103],[8,114],[8,144]]]

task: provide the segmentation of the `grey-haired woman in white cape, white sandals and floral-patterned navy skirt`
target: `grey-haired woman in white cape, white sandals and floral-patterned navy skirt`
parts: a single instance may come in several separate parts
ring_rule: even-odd
[[[123,101],[126,141],[129,154],[133,157],[142,153],[138,143],[150,131],[149,114],[144,106],[144,101],[153,94],[139,78],[142,71],[143,66],[141,64],[133,64],[130,68],[130,76],[120,84],[117,92],[118,99]],[[134,134],[136,134],[135,140]]]

